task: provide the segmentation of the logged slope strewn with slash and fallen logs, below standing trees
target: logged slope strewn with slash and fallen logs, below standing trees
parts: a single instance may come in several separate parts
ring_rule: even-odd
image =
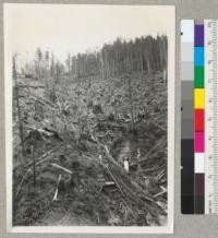
[[[134,119],[125,114],[129,95],[113,92],[120,95],[118,103],[105,92],[109,80],[100,87],[93,78],[92,87],[84,81],[68,91],[63,83],[45,90],[26,80],[35,87],[20,90],[24,154],[19,123],[13,128],[14,226],[167,223],[167,92],[159,90],[165,88],[158,86],[161,75],[143,75],[153,90],[140,88],[142,76],[132,82],[137,88],[132,95],[146,105],[136,106],[142,98],[135,98]],[[86,90],[78,92],[78,85]],[[95,100],[92,88],[105,97]]]

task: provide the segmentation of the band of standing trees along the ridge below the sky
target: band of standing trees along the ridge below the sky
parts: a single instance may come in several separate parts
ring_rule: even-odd
[[[52,52],[40,48],[36,50],[33,62],[22,68],[25,75],[37,79],[52,76],[57,81],[62,74],[74,79],[101,75],[101,79],[118,76],[123,73],[166,70],[168,41],[166,36],[152,36],[124,40],[117,38],[112,44],[105,44],[100,50],[68,55],[65,63],[58,61]]]

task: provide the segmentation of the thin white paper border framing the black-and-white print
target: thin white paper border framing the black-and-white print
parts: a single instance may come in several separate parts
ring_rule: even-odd
[[[174,83],[175,83],[175,7],[142,5],[147,8],[170,8],[171,20],[168,35],[168,223],[167,226],[12,226],[12,52],[10,50],[7,11],[11,4],[3,3],[4,27],[4,98],[5,98],[5,171],[7,171],[7,230],[8,233],[36,234],[172,234],[174,209]],[[41,3],[44,4],[44,3]],[[33,4],[32,4],[33,5]],[[36,8],[40,4],[36,4]],[[45,5],[45,4],[44,4]],[[49,4],[53,5],[53,4]],[[68,8],[68,4],[64,4]],[[93,4],[92,4],[93,5]],[[110,5],[108,5],[110,7]],[[145,23],[146,24],[146,23]]]

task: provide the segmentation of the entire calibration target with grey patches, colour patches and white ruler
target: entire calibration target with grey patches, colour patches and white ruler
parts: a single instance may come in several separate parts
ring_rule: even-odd
[[[218,21],[181,22],[181,211],[218,213]]]

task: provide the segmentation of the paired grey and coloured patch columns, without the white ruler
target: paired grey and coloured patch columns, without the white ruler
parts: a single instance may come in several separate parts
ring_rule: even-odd
[[[182,213],[205,212],[204,25],[181,23]]]

